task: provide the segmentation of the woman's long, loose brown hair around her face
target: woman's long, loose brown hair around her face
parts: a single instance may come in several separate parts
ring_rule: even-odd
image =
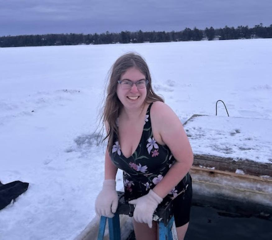
[[[151,76],[148,69],[148,66],[143,57],[134,52],[126,53],[120,56],[115,63],[112,65],[109,71],[108,78],[108,87],[107,87],[107,96],[104,101],[104,106],[101,112],[100,121],[103,122],[103,127],[105,122],[108,123],[108,132],[106,137],[102,140],[104,142],[108,138],[108,150],[112,149],[113,146],[113,134],[115,133],[118,136],[118,128],[116,120],[122,109],[122,103],[118,99],[116,90],[117,90],[117,81],[120,80],[123,73],[131,67],[136,67],[145,75],[145,78],[149,81],[147,84],[147,95],[145,97],[146,103],[151,103],[155,101],[164,102],[164,100],[154,93],[151,85]],[[102,130],[103,131],[103,130]],[[118,136],[119,138],[119,136]]]

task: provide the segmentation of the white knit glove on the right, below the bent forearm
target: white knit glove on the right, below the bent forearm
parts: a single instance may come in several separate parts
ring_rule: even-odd
[[[129,201],[130,204],[136,204],[133,217],[136,222],[147,223],[152,228],[153,213],[162,202],[162,198],[151,189],[149,193],[141,198]]]

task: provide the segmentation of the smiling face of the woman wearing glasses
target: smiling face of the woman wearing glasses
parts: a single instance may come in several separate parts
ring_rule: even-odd
[[[121,75],[120,81],[130,80],[131,82],[137,82],[142,79],[145,79],[145,75],[137,68],[132,67]],[[123,89],[120,83],[117,85],[117,96],[127,109],[141,107],[145,101],[146,94],[146,87],[138,89],[136,84],[133,84],[130,89]]]

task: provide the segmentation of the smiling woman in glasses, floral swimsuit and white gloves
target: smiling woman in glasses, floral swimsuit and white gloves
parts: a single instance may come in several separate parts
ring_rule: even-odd
[[[193,154],[177,115],[151,86],[145,60],[135,53],[113,64],[102,120],[108,146],[105,180],[95,201],[99,216],[113,217],[118,206],[117,169],[123,170],[125,198],[135,204],[136,239],[157,239],[153,213],[163,198],[173,199],[178,239],[188,228]]]

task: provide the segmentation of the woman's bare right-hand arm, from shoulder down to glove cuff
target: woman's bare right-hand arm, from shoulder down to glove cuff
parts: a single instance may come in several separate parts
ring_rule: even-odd
[[[154,128],[177,160],[153,189],[164,198],[190,170],[193,152],[182,123],[173,110],[162,102],[155,102],[151,110]]]

